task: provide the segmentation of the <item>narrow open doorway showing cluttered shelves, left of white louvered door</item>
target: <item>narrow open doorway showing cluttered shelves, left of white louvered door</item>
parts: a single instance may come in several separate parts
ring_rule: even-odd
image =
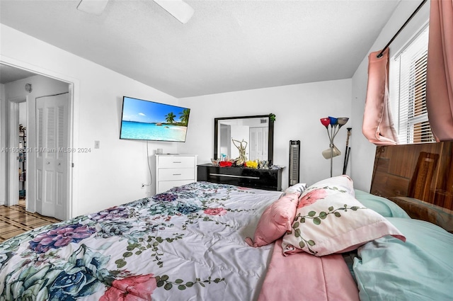
[[[19,179],[19,204],[25,205],[27,181],[27,103],[19,103],[19,145],[18,145],[18,179]]]

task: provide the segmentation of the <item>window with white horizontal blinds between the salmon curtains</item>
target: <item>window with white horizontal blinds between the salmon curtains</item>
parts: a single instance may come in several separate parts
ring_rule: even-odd
[[[426,110],[428,26],[390,59],[389,97],[399,144],[435,142]]]

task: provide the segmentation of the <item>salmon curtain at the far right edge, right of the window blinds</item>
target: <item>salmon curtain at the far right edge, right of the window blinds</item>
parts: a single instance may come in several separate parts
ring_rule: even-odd
[[[431,0],[426,108],[437,142],[453,140],[453,0]]]

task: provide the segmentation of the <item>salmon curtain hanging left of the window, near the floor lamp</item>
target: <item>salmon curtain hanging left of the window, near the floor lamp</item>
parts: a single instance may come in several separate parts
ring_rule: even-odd
[[[362,133],[369,142],[377,145],[398,144],[389,109],[389,48],[382,57],[380,51],[368,57],[368,85]]]

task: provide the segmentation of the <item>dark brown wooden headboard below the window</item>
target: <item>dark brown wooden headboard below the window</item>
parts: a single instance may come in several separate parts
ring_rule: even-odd
[[[453,232],[453,142],[377,147],[370,192]]]

